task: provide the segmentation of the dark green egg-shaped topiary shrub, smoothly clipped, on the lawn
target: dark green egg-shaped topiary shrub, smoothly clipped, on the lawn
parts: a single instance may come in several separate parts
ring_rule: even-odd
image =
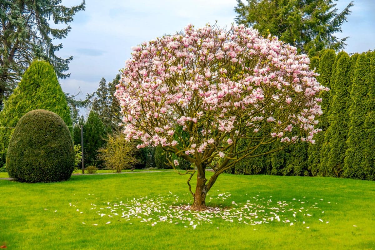
[[[74,170],[74,146],[65,122],[55,113],[26,113],[14,129],[6,156],[10,177],[23,182],[68,180]]]

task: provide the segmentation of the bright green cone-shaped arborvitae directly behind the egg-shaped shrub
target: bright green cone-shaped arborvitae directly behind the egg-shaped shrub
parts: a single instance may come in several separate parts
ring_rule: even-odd
[[[65,94],[58,83],[55,70],[45,61],[34,61],[30,65],[0,112],[0,127],[4,127],[0,128],[1,166],[5,164],[12,127],[17,125],[23,115],[34,109],[52,111],[59,115],[67,126],[72,125]]]

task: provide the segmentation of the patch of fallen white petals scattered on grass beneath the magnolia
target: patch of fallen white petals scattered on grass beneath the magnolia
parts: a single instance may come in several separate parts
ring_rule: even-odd
[[[169,192],[169,194],[165,196],[144,196],[132,198],[126,202],[105,201],[102,202],[102,204],[105,204],[102,207],[96,207],[95,204],[91,203],[94,207],[91,207],[89,210],[93,210],[95,214],[101,217],[120,216],[126,221],[130,219],[138,220],[150,226],[156,226],[157,222],[166,222],[175,225],[181,224],[184,225],[185,228],[191,226],[193,229],[204,223],[216,223],[219,219],[229,223],[246,225],[283,222],[293,226],[301,223],[299,219],[301,219],[302,216],[312,216],[311,214],[304,214],[309,209],[314,211],[316,211],[315,209],[320,210],[320,208],[317,207],[318,203],[309,202],[306,199],[278,201],[273,198],[273,201],[270,197],[271,196],[261,197],[260,195],[255,195],[253,197],[248,197],[246,202],[237,203],[236,201],[231,201],[229,202],[231,206],[226,207],[225,204],[220,204],[220,202],[224,201],[228,204],[226,200],[231,199],[231,194],[216,193],[207,195],[207,198],[210,198],[210,202],[214,204],[219,203],[219,207],[207,207],[207,210],[204,211],[192,211],[190,210],[192,200],[179,198],[179,196]],[[300,203],[305,204],[304,206],[306,208],[300,207]],[[293,222],[291,222],[291,218],[293,218]],[[323,220],[321,220],[321,222],[323,222]],[[302,223],[305,224],[306,222],[303,221]]]

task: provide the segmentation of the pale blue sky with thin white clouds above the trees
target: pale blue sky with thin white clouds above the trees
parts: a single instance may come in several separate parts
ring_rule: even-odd
[[[62,0],[65,6],[80,0]],[[336,1],[339,10],[350,0]],[[236,0],[86,0],[86,10],[77,13],[72,30],[57,53],[62,58],[73,55],[69,64],[71,76],[60,80],[64,92],[81,94],[96,91],[104,77],[112,81],[125,61],[131,47],[164,34],[181,31],[187,24],[202,27],[206,23],[225,27],[234,22]],[[348,22],[337,37],[350,37],[345,51],[363,52],[375,49],[375,0],[356,0]]]

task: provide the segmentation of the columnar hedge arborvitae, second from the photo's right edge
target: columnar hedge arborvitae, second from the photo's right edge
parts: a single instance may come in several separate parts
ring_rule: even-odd
[[[367,96],[370,83],[369,72],[369,55],[362,53],[356,63],[350,93],[350,125],[347,140],[348,149],[344,160],[344,177],[355,179],[365,179],[366,177],[363,168],[365,164],[363,153],[367,148],[366,143],[368,139],[368,133],[364,124],[367,115],[367,100],[369,99]]]

